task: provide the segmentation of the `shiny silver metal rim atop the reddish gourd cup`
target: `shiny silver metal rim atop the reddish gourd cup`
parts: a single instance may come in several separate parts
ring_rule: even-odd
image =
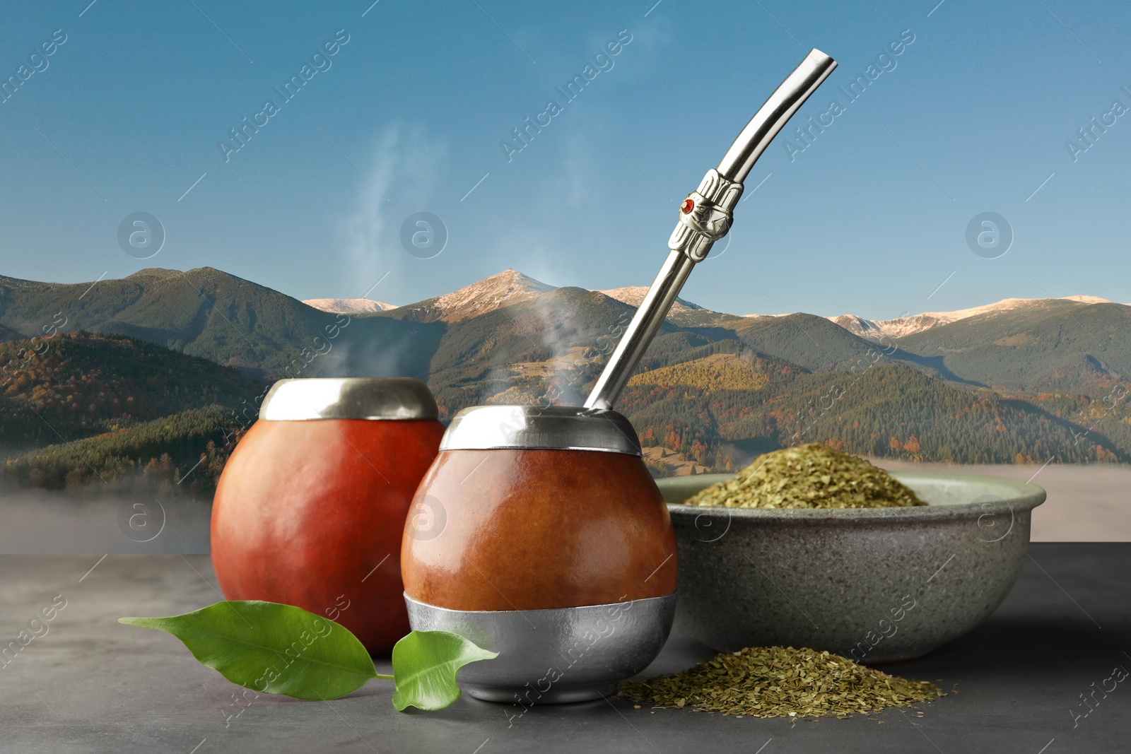
[[[304,378],[279,380],[267,392],[259,418],[438,419],[432,392],[415,378]]]

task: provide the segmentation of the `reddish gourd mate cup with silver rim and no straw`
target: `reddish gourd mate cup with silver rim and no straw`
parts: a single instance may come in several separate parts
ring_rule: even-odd
[[[409,378],[276,382],[217,485],[211,558],[227,599],[296,605],[372,655],[408,633],[400,539],[443,425]]]

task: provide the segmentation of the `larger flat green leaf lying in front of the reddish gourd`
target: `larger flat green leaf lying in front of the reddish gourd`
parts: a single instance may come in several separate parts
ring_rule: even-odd
[[[262,693],[337,699],[370,678],[389,677],[377,674],[369,652],[345,626],[291,605],[233,600],[119,623],[169,632],[204,665]]]

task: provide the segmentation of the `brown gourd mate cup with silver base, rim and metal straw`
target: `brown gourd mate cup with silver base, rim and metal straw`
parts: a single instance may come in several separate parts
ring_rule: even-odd
[[[459,670],[473,696],[595,699],[659,653],[676,549],[636,430],[612,406],[692,268],[731,227],[754,162],[836,62],[812,50],[679,209],[668,254],[585,407],[478,406],[452,419],[405,523],[415,630],[499,652]]]

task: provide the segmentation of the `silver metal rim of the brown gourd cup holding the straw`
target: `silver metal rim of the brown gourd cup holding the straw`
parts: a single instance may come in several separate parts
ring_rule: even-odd
[[[580,406],[474,406],[456,414],[440,450],[593,450],[641,456],[632,424]]]

